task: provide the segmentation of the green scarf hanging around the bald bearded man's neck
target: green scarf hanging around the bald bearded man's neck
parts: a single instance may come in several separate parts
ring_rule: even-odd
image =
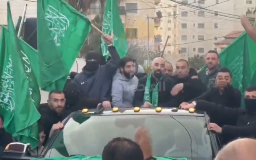
[[[158,107],[158,86],[159,86],[160,80],[162,80],[162,77],[157,82],[157,84],[156,84],[156,86],[155,86],[155,88],[152,92],[152,98],[151,98],[151,95],[150,95],[151,77],[152,77],[152,73],[147,78],[143,103],[149,102],[149,103],[152,104],[152,106],[154,108],[156,108],[156,107]]]

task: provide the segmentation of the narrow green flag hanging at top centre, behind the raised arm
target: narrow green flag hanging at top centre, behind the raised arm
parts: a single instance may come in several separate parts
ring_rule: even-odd
[[[119,56],[123,58],[128,51],[128,42],[124,31],[124,25],[119,16],[117,0],[106,0],[102,32],[111,35],[112,31],[114,33],[113,44],[116,47]],[[100,47],[103,56],[108,58],[108,45],[104,42],[103,36],[101,36]]]

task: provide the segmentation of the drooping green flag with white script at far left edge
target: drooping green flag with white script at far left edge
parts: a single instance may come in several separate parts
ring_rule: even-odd
[[[0,113],[4,116],[7,132],[16,136],[19,142],[38,146],[37,121],[40,119],[35,103],[30,96],[29,82],[22,65],[22,50],[16,35],[10,3],[7,3],[8,29],[2,26],[0,46]]]

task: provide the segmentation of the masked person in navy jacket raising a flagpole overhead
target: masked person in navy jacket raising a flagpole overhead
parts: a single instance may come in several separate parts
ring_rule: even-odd
[[[112,45],[111,36],[105,35],[104,40],[108,44],[108,51],[111,60],[105,65],[100,66],[102,58],[100,53],[90,51],[86,54],[86,65],[81,73],[75,76],[76,82],[85,98],[89,101],[100,102],[104,108],[111,108],[111,84],[114,74],[120,62],[120,56]],[[96,106],[94,106],[96,108]]]

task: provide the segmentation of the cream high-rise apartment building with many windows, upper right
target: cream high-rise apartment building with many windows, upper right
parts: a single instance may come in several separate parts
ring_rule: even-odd
[[[179,0],[178,50],[191,57],[217,50],[215,42],[224,40],[232,30],[243,30],[239,16],[255,13],[255,0]],[[206,8],[202,10],[188,4]],[[237,15],[237,16],[234,16]]]

